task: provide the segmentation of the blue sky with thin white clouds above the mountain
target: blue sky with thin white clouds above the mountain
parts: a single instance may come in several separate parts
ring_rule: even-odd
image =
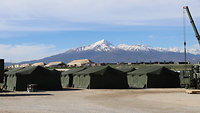
[[[183,6],[197,29],[199,0],[0,0],[0,58],[37,60],[105,39],[183,48]],[[200,49],[186,15],[187,48]]]

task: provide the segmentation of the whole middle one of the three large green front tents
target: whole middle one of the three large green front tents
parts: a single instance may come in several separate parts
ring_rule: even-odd
[[[74,88],[128,88],[126,72],[110,66],[90,67],[73,76]]]

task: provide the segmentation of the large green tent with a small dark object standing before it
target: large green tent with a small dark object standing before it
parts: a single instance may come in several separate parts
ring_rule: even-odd
[[[6,89],[25,91],[28,84],[37,84],[38,90],[60,90],[60,73],[50,71],[41,66],[30,66],[24,69],[6,73]]]

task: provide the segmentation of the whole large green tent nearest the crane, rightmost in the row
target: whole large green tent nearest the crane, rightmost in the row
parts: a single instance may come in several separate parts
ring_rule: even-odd
[[[127,74],[132,88],[176,88],[180,87],[179,74],[168,68],[143,67]]]

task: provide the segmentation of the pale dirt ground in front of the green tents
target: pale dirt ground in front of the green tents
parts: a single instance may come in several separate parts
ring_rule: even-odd
[[[185,89],[65,89],[0,92],[0,113],[198,113]]]

